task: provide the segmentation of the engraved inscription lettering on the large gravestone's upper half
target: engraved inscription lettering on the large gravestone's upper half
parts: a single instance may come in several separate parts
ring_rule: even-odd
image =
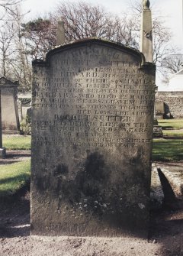
[[[53,116],[49,124],[47,120],[41,120],[35,125],[38,130],[56,132],[63,146],[70,141],[79,146],[135,147],[141,141],[122,142],[110,138],[110,134],[122,131],[122,138],[127,134],[144,134],[143,139],[146,139],[151,125],[144,123],[143,117],[153,112],[154,81],[139,69],[138,63],[125,62],[120,52],[106,50],[111,60],[101,61],[103,53],[96,48],[90,50],[88,60],[82,60],[83,53],[75,49],[66,56],[63,53],[62,60],[54,58],[53,73],[45,72],[41,67],[37,70],[34,108],[52,110]],[[91,64],[94,61],[95,67]],[[136,117],[139,117],[138,121]],[[108,140],[92,141],[96,136]],[[48,140],[34,143],[53,144]]]

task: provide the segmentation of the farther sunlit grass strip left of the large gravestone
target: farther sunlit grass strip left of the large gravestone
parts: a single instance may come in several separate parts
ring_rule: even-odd
[[[7,150],[30,150],[31,136],[3,135],[2,145]]]

